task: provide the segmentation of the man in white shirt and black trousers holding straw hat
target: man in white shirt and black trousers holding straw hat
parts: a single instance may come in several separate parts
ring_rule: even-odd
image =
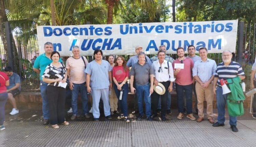
[[[152,118],[157,116],[157,104],[159,97],[161,97],[161,120],[166,120],[166,110],[167,110],[167,97],[168,92],[172,91],[172,82],[174,81],[173,77],[173,68],[172,63],[165,60],[165,51],[159,50],[157,53],[158,60],[154,61],[152,68],[154,69],[154,89],[155,91],[152,94],[152,107],[153,115]],[[160,86],[160,87],[159,87]],[[163,87],[162,87],[163,86]],[[160,91],[158,91],[158,88]],[[162,89],[162,91],[161,91]]]

